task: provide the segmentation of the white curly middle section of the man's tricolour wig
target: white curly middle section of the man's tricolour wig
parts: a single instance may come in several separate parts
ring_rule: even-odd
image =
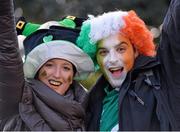
[[[126,15],[128,15],[128,12],[114,11],[92,18],[91,31],[89,34],[90,40],[96,43],[103,38],[120,32],[125,26],[123,16]]]

